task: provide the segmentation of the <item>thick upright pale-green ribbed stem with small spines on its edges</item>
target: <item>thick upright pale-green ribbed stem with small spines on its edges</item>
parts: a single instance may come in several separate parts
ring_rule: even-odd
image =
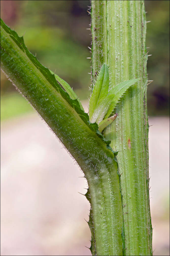
[[[152,255],[149,204],[147,51],[144,1],[92,1],[92,77],[102,63],[110,85],[141,78],[117,105],[116,122],[104,135],[117,155],[126,255]]]

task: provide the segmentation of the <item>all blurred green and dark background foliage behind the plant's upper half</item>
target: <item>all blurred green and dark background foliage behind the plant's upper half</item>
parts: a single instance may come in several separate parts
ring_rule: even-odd
[[[90,94],[90,1],[1,1],[1,17],[24,35],[40,62],[66,80],[81,100]],[[149,48],[148,114],[169,114],[169,1],[145,1]],[[1,120],[32,111],[1,71]]]

